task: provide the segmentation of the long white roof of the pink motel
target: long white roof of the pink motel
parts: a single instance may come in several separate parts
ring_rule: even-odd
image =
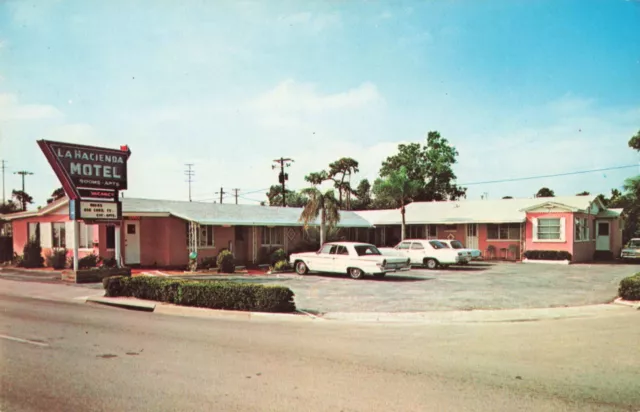
[[[526,210],[555,206],[571,211],[586,211],[595,202],[599,217],[616,217],[621,209],[604,209],[596,196],[566,196],[531,199],[460,200],[416,202],[406,206],[407,224],[464,224],[524,222]],[[4,215],[5,220],[41,216],[64,210],[68,200],[60,199],[37,211]],[[126,216],[175,216],[200,224],[238,226],[302,226],[302,208],[236,205],[176,200],[122,198]],[[60,212],[58,212],[60,213]],[[341,211],[339,227],[398,225],[399,209]],[[319,224],[319,220],[316,221]]]

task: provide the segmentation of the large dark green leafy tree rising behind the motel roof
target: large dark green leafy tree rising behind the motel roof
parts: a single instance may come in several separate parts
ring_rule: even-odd
[[[391,176],[404,166],[407,178],[418,182],[415,201],[456,200],[466,196],[466,188],[456,185],[453,165],[458,151],[439,132],[427,134],[426,143],[398,145],[398,153],[382,162],[380,177]]]

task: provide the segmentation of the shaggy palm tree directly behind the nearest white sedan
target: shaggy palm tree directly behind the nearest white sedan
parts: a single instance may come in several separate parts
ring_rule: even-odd
[[[331,229],[340,222],[340,206],[332,189],[327,190],[324,194],[315,187],[302,189],[301,193],[305,195],[309,201],[304,206],[300,214],[299,221],[304,224],[307,230],[309,225],[315,224],[318,216],[320,216],[320,247],[324,244],[325,229]]]

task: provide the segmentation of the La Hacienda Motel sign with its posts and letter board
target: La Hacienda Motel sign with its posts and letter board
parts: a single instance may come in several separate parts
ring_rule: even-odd
[[[38,140],[69,197],[69,219],[73,222],[73,269],[78,270],[79,221],[118,223],[115,230],[115,257],[121,267],[122,203],[120,190],[127,189],[128,146],[120,150],[71,143]]]

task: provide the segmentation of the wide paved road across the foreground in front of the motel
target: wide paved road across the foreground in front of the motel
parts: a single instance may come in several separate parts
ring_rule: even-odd
[[[617,313],[275,323],[0,294],[0,410],[635,412],[640,314]]]

